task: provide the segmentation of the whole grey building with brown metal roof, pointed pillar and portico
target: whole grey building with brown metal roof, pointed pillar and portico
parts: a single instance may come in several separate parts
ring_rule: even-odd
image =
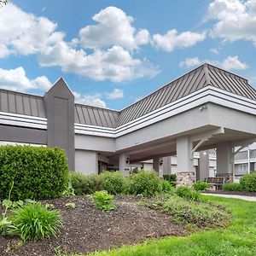
[[[127,176],[150,165],[160,176],[169,165],[199,179],[246,172],[235,159],[255,138],[256,91],[247,79],[209,64],[121,111],[75,103],[63,79],[44,96],[0,90],[2,144],[61,147],[69,169],[86,174]]]

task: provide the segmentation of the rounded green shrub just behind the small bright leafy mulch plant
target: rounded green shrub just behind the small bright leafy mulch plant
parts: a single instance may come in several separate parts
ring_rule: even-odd
[[[125,177],[121,172],[102,172],[102,183],[104,190],[112,195],[125,192]]]

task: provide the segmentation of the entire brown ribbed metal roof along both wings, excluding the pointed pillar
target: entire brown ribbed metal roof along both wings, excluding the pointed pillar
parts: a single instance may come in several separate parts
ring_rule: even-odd
[[[112,128],[125,125],[184,96],[189,96],[207,85],[256,100],[256,90],[248,84],[247,79],[210,64],[204,64],[122,111],[75,104],[75,123]],[[45,118],[44,97],[0,90],[0,111]]]

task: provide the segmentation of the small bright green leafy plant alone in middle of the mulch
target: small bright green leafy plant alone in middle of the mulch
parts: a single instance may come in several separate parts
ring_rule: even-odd
[[[102,212],[113,210],[113,195],[108,195],[107,191],[96,191],[93,195],[93,202],[96,208]]]

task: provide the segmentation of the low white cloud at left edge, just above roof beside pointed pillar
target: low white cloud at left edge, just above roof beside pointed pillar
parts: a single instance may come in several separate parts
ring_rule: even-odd
[[[28,79],[23,67],[15,69],[0,68],[0,87],[8,90],[27,91],[32,89],[48,90],[52,84],[42,76],[36,79]]]

